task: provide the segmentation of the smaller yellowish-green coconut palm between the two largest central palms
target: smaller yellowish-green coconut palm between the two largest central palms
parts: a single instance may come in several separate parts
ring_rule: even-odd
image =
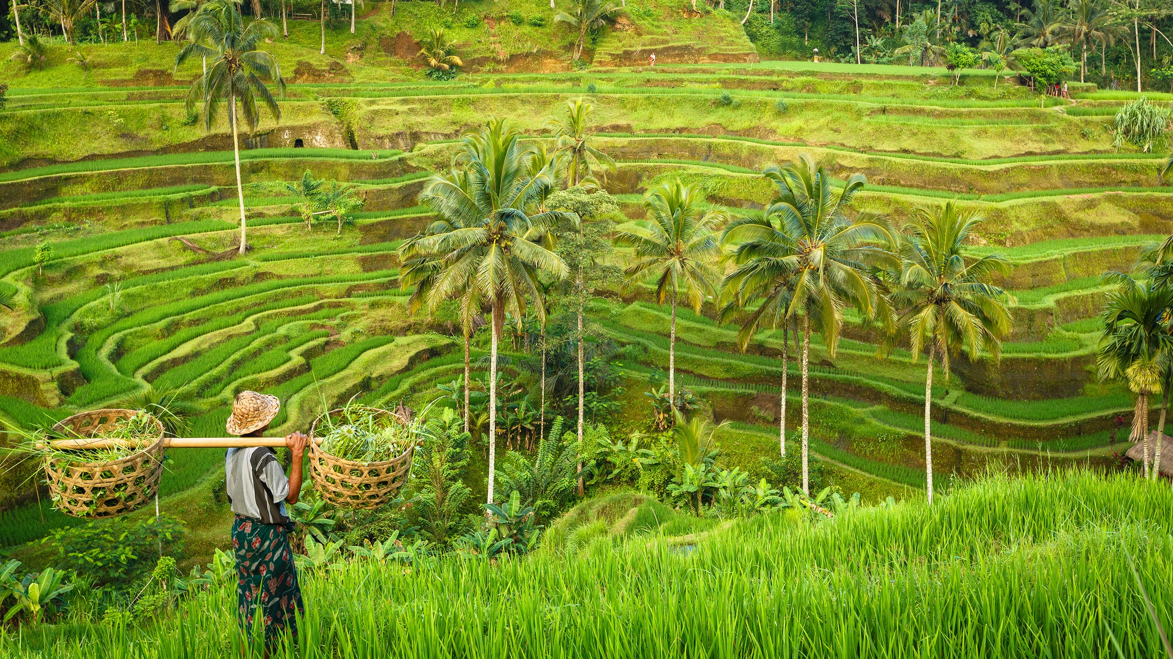
[[[717,229],[728,219],[723,210],[708,208],[704,191],[680,179],[663,183],[644,196],[647,219],[616,227],[615,243],[631,246],[636,263],[624,274],[623,290],[656,280],[656,300],[672,306],[667,348],[669,400],[676,401],[676,305],[683,293],[697,312],[711,297],[718,274],[708,265],[717,256]]]

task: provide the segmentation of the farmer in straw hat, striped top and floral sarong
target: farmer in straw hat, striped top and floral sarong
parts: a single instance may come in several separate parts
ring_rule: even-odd
[[[280,407],[277,396],[240,392],[232,403],[228,433],[259,437]],[[289,478],[269,447],[230,448],[224,458],[228,498],[236,514],[232,548],[236,550],[237,623],[248,634],[259,606],[264,612],[266,647],[286,631],[296,638],[297,614],[305,611],[290,549],[292,523],[285,504],[297,503],[301,491],[301,455],[306,439],[301,433],[285,437],[293,462]]]

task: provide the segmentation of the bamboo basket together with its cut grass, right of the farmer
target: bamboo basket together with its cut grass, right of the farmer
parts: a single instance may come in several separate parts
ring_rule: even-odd
[[[422,422],[407,409],[392,413],[353,399],[323,414],[310,428],[314,488],[344,508],[377,508],[391,501],[407,481],[421,432]]]

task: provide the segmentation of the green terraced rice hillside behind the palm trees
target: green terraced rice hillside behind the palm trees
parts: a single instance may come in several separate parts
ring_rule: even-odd
[[[949,381],[934,375],[938,482],[991,464],[1110,466],[1127,448],[1117,417],[1132,395],[1093,375],[1101,274],[1128,269],[1173,232],[1173,188],[1159,184],[1161,155],[1112,148],[1120,96],[1077,88],[1073,102],[1040,102],[1012,81],[995,89],[986,72],[952,87],[943,69],[758,63],[737,23],[682,19],[655,2],[652,14],[605,32],[594,66],[575,70],[565,28],[514,25],[497,5],[462,4],[452,18],[469,63],[452,81],[412,66],[418,43],[404,30],[435,19],[429,2],[401,2],[394,16],[374,5],[355,36],[330,33],[326,55],[316,50],[317,23],[292,21],[289,40],[273,45],[291,73],[280,122],[263,121],[242,151],[252,247],[244,256],[232,250],[231,138],[224,125],[208,133],[189,120],[183,83],[196,68],[171,75],[174,45],[82,47],[96,62],[84,86],[60,50],[43,72],[0,67],[9,84],[0,292],[13,307],[0,312],[0,422],[32,426],[171,392],[195,409],[190,434],[215,436],[232,396],[251,388],[282,398],[284,433],[352,396],[416,406],[438,398],[462,373],[459,324],[452,310],[409,313],[396,256],[430,219],[418,205],[423,179],[488,116],[552,148],[545,122],[585,98],[592,144],[617,161],[604,186],[630,218],[643,216],[644,191],[676,178],[752,213],[772,193],[761,169],[800,154],[840,179],[866,175],[860,211],[901,219],[957,199],[982,213],[970,253],[1011,261],[994,283],[1018,300],[1013,333],[1001,362],[956,359]],[[520,6],[527,16],[550,13],[544,2]],[[652,70],[639,66],[650,48],[660,57]],[[115,66],[123,61],[130,66]],[[285,183],[306,170],[354,183],[364,197],[339,231],[330,222],[307,229],[298,215]],[[45,243],[52,254],[38,260]],[[626,265],[630,253],[612,258]],[[621,346],[625,403],[645,417],[642,394],[667,364],[666,307],[649,288],[612,287],[588,315]],[[784,369],[788,413],[798,410],[795,351],[780,359],[779,328],[741,353],[737,327],[716,317],[711,303],[679,312],[676,365],[713,416],[733,422],[720,432],[724,460],[754,469],[778,450]],[[818,339],[812,351],[812,451],[846,492],[908,496],[925,477],[923,362],[901,348],[879,359],[876,330],[848,319],[834,359]],[[474,359],[487,342],[482,328]],[[475,365],[474,376],[483,371]],[[219,460],[179,453],[164,505],[187,505]],[[5,482],[0,543],[70,523],[38,503],[27,481]]]

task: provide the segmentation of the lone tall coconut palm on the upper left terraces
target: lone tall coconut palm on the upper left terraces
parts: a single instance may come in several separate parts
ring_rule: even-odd
[[[236,162],[236,191],[240,202],[240,253],[248,250],[244,219],[244,184],[240,182],[240,138],[237,104],[244,113],[249,131],[257,128],[257,100],[259,98],[280,121],[282,110],[277,106],[266,83],[272,83],[277,93],[285,95],[285,80],[277,60],[258,47],[265,39],[277,36],[277,28],[265,19],[256,19],[244,25],[244,18],[233,2],[211,0],[191,19],[191,43],[175,57],[175,68],[192,56],[211,59],[208,70],[191,83],[188,93],[188,113],[196,103],[203,106],[204,129],[211,130],[212,116],[221,106],[228,103],[229,125],[232,129],[232,156]]]

